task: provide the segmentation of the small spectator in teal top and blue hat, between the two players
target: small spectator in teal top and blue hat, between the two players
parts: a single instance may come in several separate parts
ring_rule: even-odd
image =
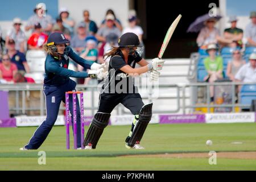
[[[88,39],[86,40],[86,48],[82,51],[81,55],[82,58],[91,61],[92,63],[97,63],[97,40],[95,39]],[[80,65],[78,66],[79,71],[86,71],[83,67]],[[85,78],[84,84],[87,85],[91,79]]]

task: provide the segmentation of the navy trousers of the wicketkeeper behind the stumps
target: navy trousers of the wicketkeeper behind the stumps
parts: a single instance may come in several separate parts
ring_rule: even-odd
[[[36,129],[34,135],[25,146],[27,149],[38,149],[47,138],[51,131],[57,116],[59,114],[61,101],[65,102],[65,92],[75,90],[76,82],[67,81],[61,86],[44,85],[44,95],[46,96],[46,120]],[[81,126],[80,126],[80,105],[77,99],[77,147],[81,147]],[[71,113],[71,122],[73,127],[73,104],[72,96],[69,97],[69,111]],[[64,132],[64,131],[63,131]]]

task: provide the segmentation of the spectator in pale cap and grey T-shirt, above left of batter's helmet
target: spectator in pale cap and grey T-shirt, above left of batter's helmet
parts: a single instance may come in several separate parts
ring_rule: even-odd
[[[118,37],[121,36],[121,31],[119,31],[119,29],[114,26],[114,19],[114,15],[112,14],[108,14],[106,16],[105,26],[101,27],[96,34],[96,38],[98,39],[98,41],[106,42],[106,36],[112,33],[117,35]]]

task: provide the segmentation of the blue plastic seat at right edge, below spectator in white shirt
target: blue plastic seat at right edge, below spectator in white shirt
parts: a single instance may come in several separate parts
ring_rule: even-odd
[[[256,85],[243,85],[240,93],[241,104],[250,105],[252,100],[256,100]],[[250,107],[247,107],[249,109]]]

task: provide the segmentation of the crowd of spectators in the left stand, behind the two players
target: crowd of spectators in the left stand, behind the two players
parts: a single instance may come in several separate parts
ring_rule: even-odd
[[[26,73],[31,73],[26,53],[30,50],[44,51],[43,46],[52,32],[62,32],[70,40],[70,46],[76,53],[86,60],[98,63],[104,63],[104,54],[112,46],[117,46],[119,36],[125,32],[134,32],[142,40],[143,30],[137,25],[137,16],[134,13],[127,17],[129,27],[122,26],[112,9],[106,11],[105,17],[98,25],[90,18],[89,10],[81,12],[81,22],[73,19],[66,7],[61,7],[58,14],[56,19],[53,19],[47,14],[46,4],[38,3],[34,15],[27,20],[24,29],[19,17],[13,19],[13,27],[5,38],[2,37],[0,28],[0,83],[31,82],[31,79],[26,77]],[[74,65],[78,71],[86,71]],[[19,75],[15,76],[16,73]],[[80,79],[77,82],[88,84],[89,81],[90,79]]]

